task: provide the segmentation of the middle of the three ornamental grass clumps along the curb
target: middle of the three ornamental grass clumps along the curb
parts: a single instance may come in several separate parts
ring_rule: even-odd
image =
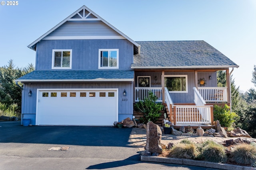
[[[226,162],[227,160],[224,146],[213,142],[208,142],[202,148],[201,154],[202,158],[209,162]]]

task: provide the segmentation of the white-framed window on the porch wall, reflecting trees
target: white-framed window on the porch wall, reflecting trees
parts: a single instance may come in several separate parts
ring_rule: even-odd
[[[169,93],[188,93],[188,75],[165,75],[164,87]]]

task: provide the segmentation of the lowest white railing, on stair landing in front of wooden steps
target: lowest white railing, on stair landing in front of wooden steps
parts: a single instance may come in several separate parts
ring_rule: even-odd
[[[174,106],[174,125],[212,124],[211,106]]]

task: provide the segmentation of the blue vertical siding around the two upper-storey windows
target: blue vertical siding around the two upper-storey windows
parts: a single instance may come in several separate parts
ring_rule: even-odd
[[[119,49],[119,69],[133,63],[128,40],[42,40],[36,46],[36,70],[52,69],[52,49],[72,49],[72,69],[98,69],[99,49]]]

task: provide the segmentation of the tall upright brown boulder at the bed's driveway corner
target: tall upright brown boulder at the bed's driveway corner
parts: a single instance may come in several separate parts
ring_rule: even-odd
[[[147,140],[145,150],[151,153],[162,154],[161,140],[162,131],[160,127],[153,122],[147,123]]]

